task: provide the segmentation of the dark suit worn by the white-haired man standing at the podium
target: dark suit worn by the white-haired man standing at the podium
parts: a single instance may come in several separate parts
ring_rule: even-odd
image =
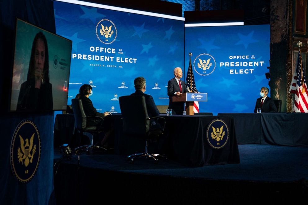
[[[188,92],[183,80],[181,80],[181,85],[182,85],[182,93]],[[184,111],[184,103],[172,102],[172,96],[174,96],[175,92],[179,91],[180,91],[179,83],[175,80],[175,78],[172,78],[170,81],[168,81],[168,96],[169,96],[168,109],[173,109],[174,111],[173,114],[182,115]]]

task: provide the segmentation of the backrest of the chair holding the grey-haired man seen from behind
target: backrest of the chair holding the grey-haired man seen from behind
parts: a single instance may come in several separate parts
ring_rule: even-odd
[[[123,120],[123,131],[127,134],[144,135],[149,131],[150,122],[144,96],[119,97]]]

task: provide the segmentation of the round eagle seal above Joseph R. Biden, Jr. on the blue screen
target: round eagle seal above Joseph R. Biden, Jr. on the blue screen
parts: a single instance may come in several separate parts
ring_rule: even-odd
[[[116,40],[116,26],[111,20],[102,19],[96,25],[96,36],[102,43],[111,44]]]

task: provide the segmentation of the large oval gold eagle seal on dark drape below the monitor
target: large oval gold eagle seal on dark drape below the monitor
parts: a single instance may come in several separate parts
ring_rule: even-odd
[[[11,142],[11,169],[14,176],[27,183],[35,175],[41,154],[38,129],[30,120],[21,121]]]

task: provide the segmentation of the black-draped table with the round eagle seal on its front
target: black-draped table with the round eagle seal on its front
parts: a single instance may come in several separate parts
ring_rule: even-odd
[[[163,136],[158,145],[158,151],[169,158],[188,166],[203,166],[206,164],[239,163],[238,145],[231,116],[167,116]],[[220,118],[229,129],[229,138],[225,146],[220,149],[211,147],[206,139],[209,123]],[[133,154],[144,151],[144,140],[137,140],[125,136],[121,132],[120,116],[115,117],[115,149],[118,154]],[[155,146],[155,143],[152,143]],[[149,144],[149,152],[157,151]],[[161,153],[160,153],[161,154]]]

